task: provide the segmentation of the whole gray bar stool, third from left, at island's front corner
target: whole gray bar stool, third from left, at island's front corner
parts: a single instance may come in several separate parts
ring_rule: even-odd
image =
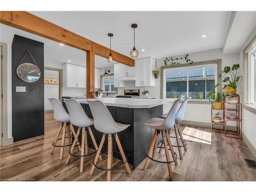
[[[102,139],[99,144],[98,152],[93,161],[90,176],[93,174],[94,168],[96,167],[101,170],[106,170],[107,171],[106,179],[107,179],[107,181],[110,181],[111,180],[111,170],[118,169],[124,165],[126,167],[127,173],[130,174],[131,170],[130,170],[129,164],[127,163],[127,159],[124,155],[122,145],[121,145],[120,140],[117,135],[118,132],[125,130],[127,127],[130,126],[130,124],[122,124],[122,123],[115,122],[113,117],[111,116],[108,108],[106,108],[106,105],[103,102],[98,101],[98,100],[95,100],[95,101],[88,100],[88,103],[89,103],[90,109],[93,114],[94,127],[96,130],[103,133]],[[102,168],[102,167],[97,166],[96,163],[97,163],[97,160],[98,160],[100,151],[102,149],[106,135],[108,135],[108,167]],[[115,140],[116,140],[116,143],[117,143],[120,153],[113,151],[112,135],[114,135],[114,137],[115,137]],[[124,163],[118,167],[111,168],[111,163],[113,161],[113,153],[121,154]]]

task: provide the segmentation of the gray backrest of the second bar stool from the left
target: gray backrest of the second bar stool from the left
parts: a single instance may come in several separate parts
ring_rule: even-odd
[[[88,127],[93,125],[93,121],[89,119],[86,112],[83,111],[80,103],[75,99],[64,99],[67,105],[70,122],[78,127]]]

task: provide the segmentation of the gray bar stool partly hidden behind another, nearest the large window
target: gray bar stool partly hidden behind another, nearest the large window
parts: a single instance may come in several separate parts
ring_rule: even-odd
[[[182,102],[182,104],[180,105],[180,108],[179,108],[178,112],[176,113],[176,117],[175,117],[175,126],[174,126],[174,131],[175,131],[175,136],[176,136],[176,137],[170,136],[170,137],[172,137],[172,138],[176,138],[177,145],[173,145],[173,146],[174,146],[174,147],[178,147],[179,156],[180,156],[180,159],[181,159],[181,160],[183,159],[182,152],[181,152],[181,147],[184,147],[184,150],[187,151],[187,147],[186,147],[187,142],[183,139],[182,133],[181,133],[179,127],[178,127],[178,122],[181,121],[181,120],[183,120],[184,117],[185,117],[185,111],[186,111],[186,106],[187,106],[188,99],[190,99],[190,97],[189,97],[189,98],[186,98],[186,99]],[[167,116],[167,114],[164,114],[164,115],[160,116],[160,118],[165,119],[166,116]],[[170,130],[169,130],[168,134],[170,135]],[[180,141],[179,141],[179,140],[181,140],[182,145],[180,145]],[[161,144],[161,146],[162,146],[162,145],[163,145],[163,138],[161,138],[161,142],[162,142],[162,144]],[[159,153],[161,153],[161,148],[160,148],[160,150],[159,150]]]

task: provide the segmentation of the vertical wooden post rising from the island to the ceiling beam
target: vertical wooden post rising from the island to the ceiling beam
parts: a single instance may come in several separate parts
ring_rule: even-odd
[[[94,92],[95,87],[95,53],[93,49],[93,45],[91,45],[91,51],[86,52],[86,95],[87,98],[93,98],[93,94],[90,92]]]

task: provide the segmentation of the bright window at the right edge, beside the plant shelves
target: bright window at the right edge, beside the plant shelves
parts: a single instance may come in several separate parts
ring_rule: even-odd
[[[256,47],[249,52],[248,57],[248,103],[256,106]]]

